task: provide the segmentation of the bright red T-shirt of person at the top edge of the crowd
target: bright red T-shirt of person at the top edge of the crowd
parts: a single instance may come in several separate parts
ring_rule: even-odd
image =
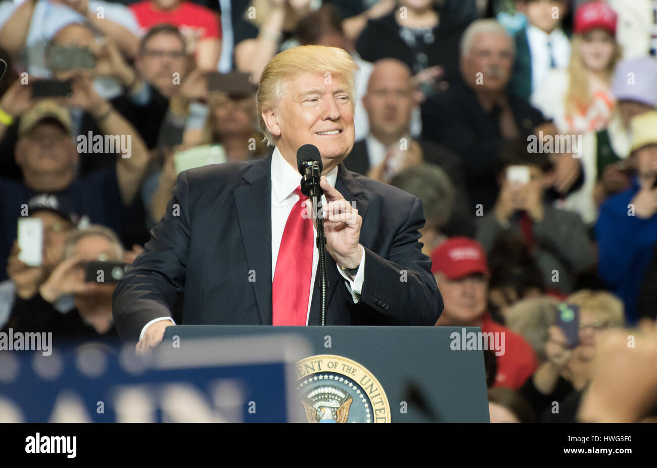
[[[221,38],[219,16],[214,11],[191,1],[183,0],[174,10],[158,9],[150,0],[143,0],[129,5],[135,14],[142,31],[161,23],[177,26],[181,34],[189,37],[193,33],[196,40]]]

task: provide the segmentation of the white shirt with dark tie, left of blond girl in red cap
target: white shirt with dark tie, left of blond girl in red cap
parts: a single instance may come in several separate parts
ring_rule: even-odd
[[[535,93],[551,70],[548,42],[552,44],[552,57],[556,68],[566,68],[570,62],[570,41],[560,28],[545,34],[531,25],[527,27],[527,41],[532,54],[532,93]]]

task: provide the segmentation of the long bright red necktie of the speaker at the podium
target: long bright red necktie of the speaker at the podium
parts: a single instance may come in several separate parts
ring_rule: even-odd
[[[299,201],[285,223],[271,284],[274,325],[306,325],[310,280],[313,277],[313,220],[302,211],[308,197],[296,187]]]

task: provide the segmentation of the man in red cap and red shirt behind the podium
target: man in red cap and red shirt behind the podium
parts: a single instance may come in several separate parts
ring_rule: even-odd
[[[528,342],[495,323],[487,313],[489,271],[482,246],[467,237],[452,237],[434,250],[431,263],[445,304],[436,325],[481,327],[483,333],[503,333],[504,352],[496,356],[493,386],[518,390],[538,363]]]

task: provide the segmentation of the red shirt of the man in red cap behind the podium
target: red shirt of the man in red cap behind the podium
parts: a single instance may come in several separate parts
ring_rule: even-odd
[[[497,374],[493,387],[507,386],[518,390],[538,368],[532,346],[518,333],[493,321],[487,313],[483,317],[482,332],[504,333],[505,352],[501,356],[495,356]]]

